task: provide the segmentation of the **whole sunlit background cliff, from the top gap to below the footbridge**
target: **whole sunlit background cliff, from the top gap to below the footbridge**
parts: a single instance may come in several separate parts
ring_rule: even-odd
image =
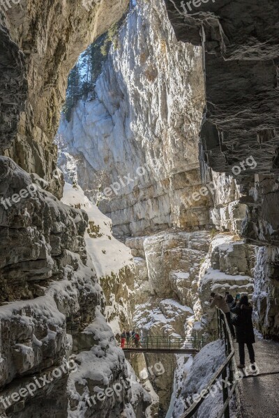
[[[126,245],[135,257],[133,324],[142,336],[186,339],[206,332],[211,339],[216,323],[210,293],[252,297],[255,248],[239,237],[247,208],[232,172],[199,167],[199,49],[181,49],[155,0],[139,2],[116,44],[96,83],[96,99],[80,101],[70,123],[61,122],[61,168],[91,197],[100,174],[103,189],[114,184],[116,193],[100,208],[112,218],[114,233],[129,237]],[[121,184],[127,176],[130,182]],[[202,180],[210,190],[205,196]],[[223,233],[216,235],[212,227]],[[171,416],[169,387],[175,374],[173,395],[181,391],[188,357],[133,359],[139,375],[156,362],[164,375],[143,384],[151,382],[158,395],[153,411],[159,406],[159,417]]]

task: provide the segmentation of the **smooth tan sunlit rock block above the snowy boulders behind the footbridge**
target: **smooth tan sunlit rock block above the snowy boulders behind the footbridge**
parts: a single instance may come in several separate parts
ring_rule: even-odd
[[[165,231],[150,237],[129,238],[126,245],[133,248],[134,242],[139,240],[149,284],[156,297],[179,297],[183,304],[193,307],[199,268],[209,250],[209,232]]]

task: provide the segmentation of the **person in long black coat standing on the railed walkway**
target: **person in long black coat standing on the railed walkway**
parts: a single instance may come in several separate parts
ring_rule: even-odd
[[[245,368],[245,344],[248,348],[250,362],[252,366],[255,363],[255,351],[253,344],[255,343],[254,327],[252,325],[252,306],[248,302],[246,295],[242,296],[236,307],[231,309],[236,314],[234,325],[236,327],[236,341],[239,343],[239,369]],[[254,366],[255,367],[255,366]]]

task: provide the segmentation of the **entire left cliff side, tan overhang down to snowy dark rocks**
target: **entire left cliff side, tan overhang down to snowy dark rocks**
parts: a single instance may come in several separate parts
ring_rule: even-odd
[[[128,1],[12,3],[0,11],[0,415],[140,418],[151,399],[128,384],[133,371],[106,322],[114,318],[100,286],[105,263],[89,245],[103,226],[98,210],[90,219],[84,200],[64,204],[50,193],[63,191],[59,172],[52,176],[52,141],[68,72]],[[32,185],[34,176],[47,180],[45,189]],[[132,277],[128,259],[118,263],[110,274]],[[122,308],[114,309],[118,324],[128,320]],[[97,386],[112,396],[90,405]]]

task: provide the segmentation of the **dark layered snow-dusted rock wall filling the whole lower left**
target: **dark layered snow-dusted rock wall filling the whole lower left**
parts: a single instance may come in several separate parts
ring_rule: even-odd
[[[11,164],[5,157],[1,162]],[[6,196],[19,192],[23,185],[26,189],[31,186],[30,176],[14,162],[10,180]],[[0,272],[1,415],[30,417],[39,407],[41,417],[89,418],[96,417],[96,411],[104,417],[119,417],[127,410],[140,418],[151,398],[137,383],[133,389],[129,386],[127,379],[132,372],[105,322],[105,316],[111,318],[105,310],[99,270],[107,265],[90,242],[96,238],[90,236],[92,211],[85,204],[86,198],[70,186],[64,200],[72,206],[66,206],[43,189],[32,190],[31,196],[13,203],[8,210],[3,205],[0,208],[4,238]],[[103,233],[103,215],[98,217],[98,209],[93,215]],[[128,252],[113,260],[114,251],[119,254],[124,246],[109,238],[107,235],[107,242],[112,241],[109,271],[129,270]],[[107,249],[105,242],[101,245]],[[121,311],[119,323],[128,320],[126,311]],[[70,362],[72,367],[67,368]],[[112,389],[116,383],[122,384],[121,394]],[[88,405],[86,399],[96,396],[96,385],[104,391],[110,388],[113,396],[105,403]]]

